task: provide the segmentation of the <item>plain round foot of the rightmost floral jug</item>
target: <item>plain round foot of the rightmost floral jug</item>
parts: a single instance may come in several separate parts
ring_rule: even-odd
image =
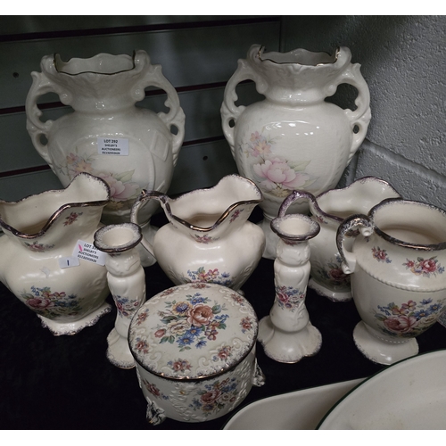
[[[418,343],[415,338],[405,342],[386,342],[384,339],[378,339],[370,334],[366,324],[362,321],[353,330],[353,340],[358,350],[367,359],[384,366],[390,366],[394,362],[418,354]]]

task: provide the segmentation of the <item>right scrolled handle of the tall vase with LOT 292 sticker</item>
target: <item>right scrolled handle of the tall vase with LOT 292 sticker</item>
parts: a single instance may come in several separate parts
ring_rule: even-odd
[[[185,120],[186,115],[180,106],[178,93],[175,87],[170,84],[169,80],[162,74],[161,65],[152,65],[149,56],[145,52],[136,52],[135,62],[139,62],[141,58],[147,58],[147,69],[145,76],[138,82],[136,86],[136,99],[138,101],[145,98],[145,87],[158,87],[164,90],[167,94],[167,100],[164,103],[169,108],[168,113],[160,111],[157,113],[158,117],[164,122],[169,131],[172,133],[172,128],[177,128],[177,134],[172,133],[172,155],[173,165],[177,165],[178,153],[183,140],[185,139]]]

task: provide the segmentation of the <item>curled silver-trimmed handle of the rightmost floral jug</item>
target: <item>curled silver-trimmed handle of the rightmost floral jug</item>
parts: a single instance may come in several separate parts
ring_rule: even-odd
[[[353,252],[349,252],[344,248],[343,242],[348,233],[353,233],[360,230],[360,233],[365,237],[372,235],[373,228],[368,216],[362,214],[351,215],[347,219],[343,220],[343,223],[337,228],[336,231],[336,245],[339,254],[341,255],[342,268],[344,274],[352,274],[356,268],[356,256]],[[356,237],[355,234],[353,236]]]

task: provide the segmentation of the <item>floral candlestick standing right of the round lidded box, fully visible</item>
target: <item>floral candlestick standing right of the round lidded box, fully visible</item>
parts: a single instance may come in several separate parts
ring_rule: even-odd
[[[269,358],[293,363],[316,354],[322,343],[305,307],[310,277],[308,241],[320,228],[309,217],[290,214],[273,219],[271,229],[279,239],[274,261],[276,298],[269,315],[260,320],[259,341]]]

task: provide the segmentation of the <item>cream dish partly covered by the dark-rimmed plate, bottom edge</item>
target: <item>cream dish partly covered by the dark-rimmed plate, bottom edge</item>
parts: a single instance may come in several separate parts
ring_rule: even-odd
[[[254,401],[236,412],[223,429],[315,429],[326,411],[363,379],[312,387]]]

